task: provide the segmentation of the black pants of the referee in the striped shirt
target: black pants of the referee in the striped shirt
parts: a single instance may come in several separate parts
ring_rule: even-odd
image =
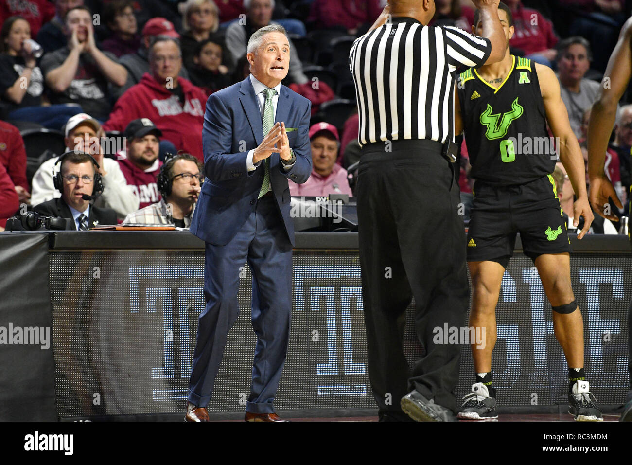
[[[396,140],[363,146],[358,231],[368,369],[380,419],[403,419],[399,400],[413,389],[457,412],[459,344],[433,342],[435,328],[465,325],[469,287],[459,189],[441,144]],[[415,330],[425,355],[404,357],[405,311],[416,301]],[[386,417],[384,416],[386,414]],[[406,417],[407,418],[407,417]]]

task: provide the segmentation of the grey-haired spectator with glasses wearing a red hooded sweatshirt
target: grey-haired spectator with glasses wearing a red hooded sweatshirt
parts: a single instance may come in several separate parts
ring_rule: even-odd
[[[104,124],[123,131],[131,120],[149,118],[164,138],[204,161],[202,124],[207,99],[204,90],[178,77],[182,56],[177,39],[159,36],[149,48],[150,73],[121,96]]]

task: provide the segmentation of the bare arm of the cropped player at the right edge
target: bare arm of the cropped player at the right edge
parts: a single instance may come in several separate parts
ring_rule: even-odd
[[[612,198],[623,208],[612,183],[605,175],[605,151],[617,116],[617,104],[628,87],[632,75],[632,18],[623,26],[617,46],[608,61],[599,98],[593,104],[588,123],[588,177],[590,178],[590,203],[597,213],[609,220],[617,220],[614,214],[605,214],[604,206]]]

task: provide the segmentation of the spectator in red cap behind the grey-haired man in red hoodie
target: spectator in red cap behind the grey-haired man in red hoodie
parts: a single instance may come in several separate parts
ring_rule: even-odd
[[[147,52],[152,40],[159,35],[166,35],[167,37],[173,37],[178,39],[180,35],[173,27],[173,23],[165,18],[153,18],[145,23],[143,27],[142,39],[140,40],[140,48],[136,53],[121,56],[119,63],[125,66],[127,70],[127,80],[125,85],[117,86],[112,85],[112,96],[114,99],[119,99],[125,91],[130,89],[131,86],[138,84],[143,77],[143,74],[149,73],[149,61],[147,59]],[[181,66],[179,77],[188,79],[188,73],[184,66]]]

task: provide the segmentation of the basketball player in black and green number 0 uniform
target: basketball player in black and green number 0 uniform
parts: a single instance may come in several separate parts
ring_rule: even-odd
[[[485,328],[486,336],[483,349],[471,345],[476,382],[464,398],[459,418],[497,418],[491,373],[495,307],[520,232],[525,255],[535,263],[553,307],[553,328],[568,362],[569,413],[578,421],[599,421],[603,417],[584,375],[583,320],[571,289],[571,245],[549,174],[556,151],[549,147],[533,154],[538,144],[545,146],[539,141],[549,140],[547,121],[559,138],[559,156],[577,195],[574,225],[580,216],[585,220],[579,239],[593,220],[583,157],[556,76],[547,66],[509,53],[513,18],[503,3],[498,13],[507,38],[504,59],[461,73],[455,95],[456,133],[465,129],[476,180],[467,247],[473,288],[470,326]],[[481,28],[477,12],[472,29],[478,34]]]

